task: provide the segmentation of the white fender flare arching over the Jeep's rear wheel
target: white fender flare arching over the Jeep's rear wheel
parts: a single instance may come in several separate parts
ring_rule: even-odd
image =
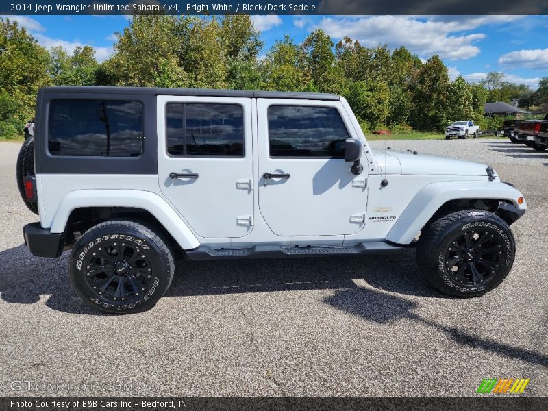
[[[140,190],[75,190],[67,193],[51,221],[50,232],[64,232],[66,221],[76,208],[133,207],[150,212],[169,230],[182,249],[195,249],[199,240],[184,220],[159,195]]]

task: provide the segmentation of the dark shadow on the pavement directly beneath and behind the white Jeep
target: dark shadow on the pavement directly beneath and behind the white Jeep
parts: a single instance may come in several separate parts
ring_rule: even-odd
[[[31,256],[24,245],[0,251],[0,299],[46,306],[71,314],[103,315],[88,306],[71,285],[69,252],[60,258]],[[364,278],[381,290],[419,297],[446,298],[433,290],[416,268],[414,250],[393,256],[334,256],[257,260],[177,260],[165,297],[245,292],[353,288]]]

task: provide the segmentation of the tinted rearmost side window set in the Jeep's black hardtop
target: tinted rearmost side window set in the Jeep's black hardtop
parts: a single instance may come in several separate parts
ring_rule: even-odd
[[[143,141],[139,101],[53,100],[49,105],[52,155],[138,157]]]

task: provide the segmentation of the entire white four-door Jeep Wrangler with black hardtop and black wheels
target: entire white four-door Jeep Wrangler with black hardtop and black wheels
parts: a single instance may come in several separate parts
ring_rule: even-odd
[[[174,253],[416,247],[438,290],[482,295],[508,275],[526,208],[489,166],[372,150],[345,99],[310,93],[42,88],[18,180],[40,215],[30,252],[72,248],[75,290],[108,312],[154,306]]]

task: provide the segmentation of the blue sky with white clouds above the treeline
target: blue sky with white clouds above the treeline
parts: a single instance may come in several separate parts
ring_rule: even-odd
[[[11,16],[42,45],[73,49],[92,45],[99,60],[112,53],[114,32],[129,24],[127,16]],[[264,49],[289,34],[301,42],[321,28],[337,42],[343,36],[362,45],[401,45],[420,58],[443,58],[449,75],[477,82],[489,71],[532,88],[548,76],[548,16],[253,16]]]

